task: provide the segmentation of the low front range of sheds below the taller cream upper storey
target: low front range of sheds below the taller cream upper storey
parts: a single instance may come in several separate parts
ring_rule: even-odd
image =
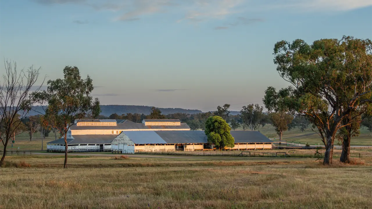
[[[272,141],[258,131],[231,131],[234,137],[232,150],[271,149]],[[211,150],[204,131],[120,131],[108,135],[72,135],[67,140],[68,151],[195,151]],[[47,143],[49,151],[64,151],[64,139]]]

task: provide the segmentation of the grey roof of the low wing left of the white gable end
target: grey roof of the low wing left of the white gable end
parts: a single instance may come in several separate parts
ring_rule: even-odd
[[[116,138],[115,134],[92,134],[92,135],[74,135],[73,139],[67,140],[67,144],[111,144],[112,140]],[[64,144],[64,139],[57,139],[47,144]]]

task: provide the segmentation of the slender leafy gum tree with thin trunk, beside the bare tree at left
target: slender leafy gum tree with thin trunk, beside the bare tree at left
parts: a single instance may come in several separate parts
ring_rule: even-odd
[[[48,81],[48,89],[33,94],[38,103],[48,103],[45,119],[56,128],[65,141],[64,168],[67,168],[67,133],[71,125],[78,123],[88,115],[93,118],[101,112],[99,100],[90,94],[94,89],[92,79],[81,78],[77,67],[66,66],[64,78]]]

